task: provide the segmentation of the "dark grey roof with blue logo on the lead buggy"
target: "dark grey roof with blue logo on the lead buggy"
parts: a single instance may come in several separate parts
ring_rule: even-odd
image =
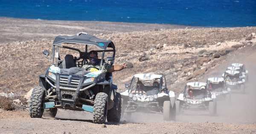
[[[92,45],[96,46],[101,50],[106,50],[109,48],[115,48],[113,42],[111,40],[103,40],[99,39],[93,35],[89,35],[85,32],[80,32],[73,36],[57,36],[53,41],[53,45],[61,45],[62,43],[72,43],[72,44],[84,44],[84,45]]]

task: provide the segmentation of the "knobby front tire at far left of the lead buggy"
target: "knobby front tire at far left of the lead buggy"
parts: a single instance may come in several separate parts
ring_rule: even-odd
[[[32,118],[41,118],[44,113],[44,88],[37,86],[33,89],[29,102],[29,115]]]

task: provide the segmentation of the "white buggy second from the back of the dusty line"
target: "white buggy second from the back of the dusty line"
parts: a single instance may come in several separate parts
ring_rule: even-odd
[[[240,71],[226,70],[223,74],[223,78],[226,87],[230,88],[231,91],[245,93],[245,80]]]

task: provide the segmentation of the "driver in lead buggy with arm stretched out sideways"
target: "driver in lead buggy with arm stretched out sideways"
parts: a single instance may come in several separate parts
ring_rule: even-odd
[[[89,52],[89,60],[90,62],[86,65],[84,65],[82,68],[84,68],[85,70],[88,71],[98,71],[100,68],[100,59],[98,59],[98,53],[97,51],[90,51]],[[125,63],[123,63],[122,65],[114,65],[111,66],[108,63],[106,63],[105,65],[105,71],[106,72],[113,72],[113,71],[121,71],[122,69],[126,68],[127,65]]]

